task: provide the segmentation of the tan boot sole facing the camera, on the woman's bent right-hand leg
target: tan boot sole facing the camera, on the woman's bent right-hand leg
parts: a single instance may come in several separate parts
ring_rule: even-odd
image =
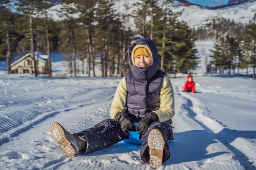
[[[154,169],[162,166],[164,139],[158,129],[152,129],[148,135],[149,165]]]

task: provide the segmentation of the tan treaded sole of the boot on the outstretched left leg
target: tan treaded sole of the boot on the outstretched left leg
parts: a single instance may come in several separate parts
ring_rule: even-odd
[[[52,123],[50,132],[52,139],[63,148],[62,151],[66,156],[71,157],[77,153],[76,148],[66,137],[66,130],[59,123]]]

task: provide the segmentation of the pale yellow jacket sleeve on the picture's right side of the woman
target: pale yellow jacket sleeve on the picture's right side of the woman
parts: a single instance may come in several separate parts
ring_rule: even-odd
[[[173,86],[168,76],[164,76],[163,78],[160,91],[160,108],[153,112],[158,114],[160,122],[167,121],[175,115]]]

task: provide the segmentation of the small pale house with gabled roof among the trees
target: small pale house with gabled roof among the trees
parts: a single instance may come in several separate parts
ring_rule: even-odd
[[[47,74],[47,59],[48,55],[43,55],[39,52],[35,52],[36,60],[38,61],[38,74]],[[19,60],[15,61],[10,65],[11,67],[11,73],[31,73],[31,67],[32,72],[35,72],[34,67],[34,61],[32,60],[31,53],[28,53],[21,57]]]

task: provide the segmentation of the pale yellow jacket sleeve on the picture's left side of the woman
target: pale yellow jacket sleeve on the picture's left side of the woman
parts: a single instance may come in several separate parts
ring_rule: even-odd
[[[111,104],[111,108],[109,110],[111,119],[115,119],[116,114],[124,110],[126,105],[126,97],[127,97],[127,87],[126,87],[126,81],[124,77],[117,87],[113,102]]]

